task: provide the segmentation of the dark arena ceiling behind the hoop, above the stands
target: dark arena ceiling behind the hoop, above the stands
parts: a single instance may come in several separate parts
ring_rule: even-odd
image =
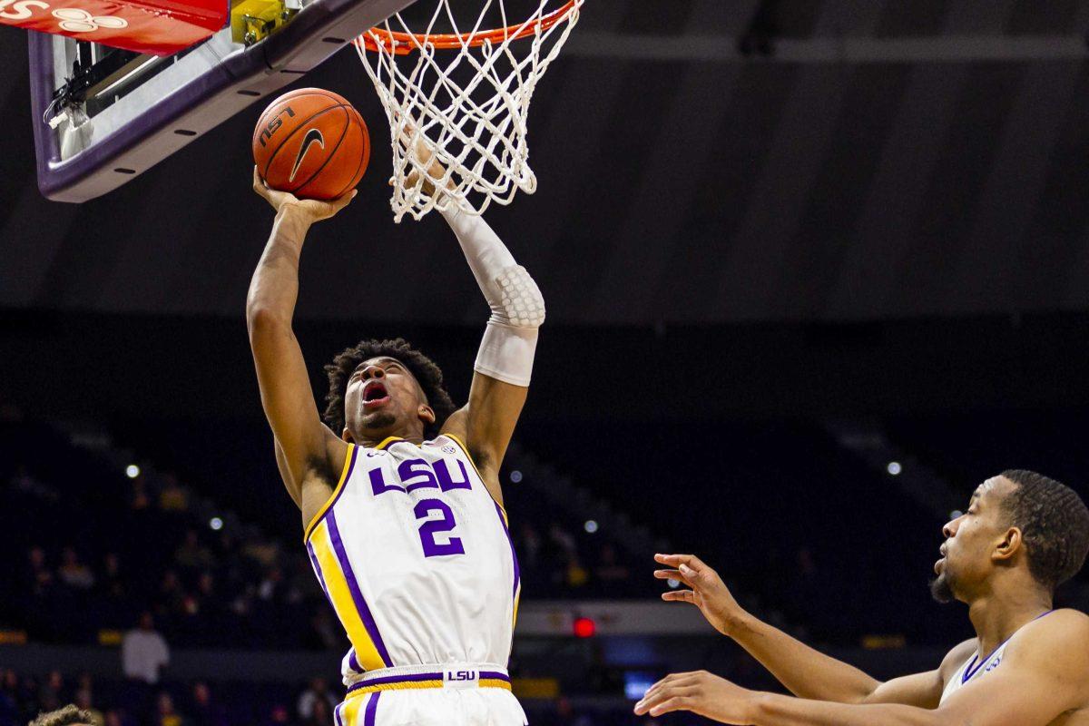
[[[588,0],[535,99],[539,190],[489,219],[565,323],[1085,309],[1087,32],[1076,0]],[[248,188],[262,104],[111,195],[50,202],[25,35],[0,35],[0,307],[241,316],[271,222]],[[375,140],[359,197],[313,233],[301,315],[480,320],[441,220],[391,221],[354,53],[298,85],[347,96]]]

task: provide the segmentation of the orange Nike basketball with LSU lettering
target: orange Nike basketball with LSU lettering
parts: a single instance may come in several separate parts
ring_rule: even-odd
[[[308,199],[335,199],[363,179],[370,136],[342,96],[321,88],[284,94],[254,130],[254,162],[273,189]]]

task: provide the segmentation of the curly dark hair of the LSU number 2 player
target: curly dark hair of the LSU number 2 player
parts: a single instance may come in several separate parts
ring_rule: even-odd
[[[396,358],[416,378],[419,387],[424,390],[427,404],[435,409],[435,423],[424,429],[427,439],[439,435],[442,424],[454,413],[454,402],[451,401],[446,387],[442,383],[442,370],[433,360],[414,348],[403,337],[392,341],[369,340],[359,345],[346,348],[326,366],[329,376],[329,393],[326,394],[326,423],[340,435],[344,430],[344,394],[347,391],[347,380],[364,360],[386,356]]]

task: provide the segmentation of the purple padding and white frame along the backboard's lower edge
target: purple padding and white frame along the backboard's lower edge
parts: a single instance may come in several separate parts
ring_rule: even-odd
[[[56,84],[64,75],[58,67],[56,44],[65,40],[32,33],[30,107],[38,187],[57,201],[101,196],[298,79],[412,1],[314,0],[279,33],[248,48],[230,42],[230,28],[220,30],[134,91],[139,96],[124,108],[103,111],[102,132],[93,134],[89,145],[68,159],[61,158],[58,133],[42,121]]]

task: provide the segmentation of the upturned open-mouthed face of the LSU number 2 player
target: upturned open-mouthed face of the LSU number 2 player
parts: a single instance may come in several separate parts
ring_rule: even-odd
[[[363,361],[344,393],[344,439],[408,435],[435,421],[416,378],[395,358]]]

